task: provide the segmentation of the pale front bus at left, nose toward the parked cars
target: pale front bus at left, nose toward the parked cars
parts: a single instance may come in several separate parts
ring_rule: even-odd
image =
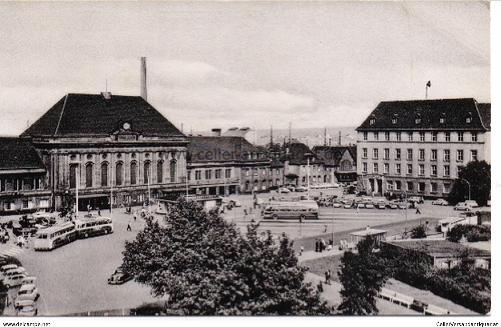
[[[69,222],[41,229],[37,231],[35,237],[35,251],[49,251],[75,241],[77,239],[77,231],[75,230],[75,225]]]

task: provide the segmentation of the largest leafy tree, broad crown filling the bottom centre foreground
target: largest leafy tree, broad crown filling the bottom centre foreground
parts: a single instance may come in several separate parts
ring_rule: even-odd
[[[292,244],[257,225],[241,235],[234,224],[195,202],[180,200],[163,223],[148,220],[126,243],[124,268],[156,297],[168,294],[168,315],[328,314],[320,294],[304,283]]]

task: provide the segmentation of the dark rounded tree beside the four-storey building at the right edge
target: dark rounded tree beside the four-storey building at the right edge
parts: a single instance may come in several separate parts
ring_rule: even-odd
[[[468,181],[471,185],[471,200],[485,206],[490,196],[490,165],[485,161],[472,161],[459,173],[448,196],[449,203],[468,200]]]

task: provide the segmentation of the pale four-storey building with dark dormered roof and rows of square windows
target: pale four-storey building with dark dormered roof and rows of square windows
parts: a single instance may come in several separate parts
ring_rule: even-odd
[[[381,102],[357,133],[370,193],[443,197],[468,162],[490,162],[490,105],[474,99]]]

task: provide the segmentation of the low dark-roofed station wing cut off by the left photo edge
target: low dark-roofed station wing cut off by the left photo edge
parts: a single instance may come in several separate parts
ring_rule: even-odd
[[[29,140],[0,138],[0,214],[51,207],[46,168]]]

